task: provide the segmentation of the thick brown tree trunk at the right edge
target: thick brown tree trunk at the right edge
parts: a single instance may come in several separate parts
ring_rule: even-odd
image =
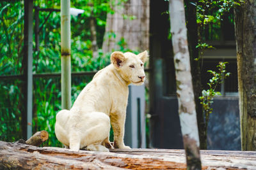
[[[235,10],[242,150],[256,150],[256,1]]]

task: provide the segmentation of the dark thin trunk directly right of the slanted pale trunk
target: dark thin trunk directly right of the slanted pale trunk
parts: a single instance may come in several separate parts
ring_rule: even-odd
[[[191,4],[191,0],[184,1],[186,5],[186,20],[187,20],[187,29],[188,29],[188,47],[189,47],[189,56],[191,64],[191,74],[193,82],[193,90],[195,94],[195,104],[196,104],[196,119],[198,123],[199,139],[200,139],[200,149],[207,149],[207,136],[206,128],[204,121],[204,112],[202,105],[200,104],[199,97],[202,96],[202,83],[201,83],[201,71],[200,63],[197,59],[199,56],[198,48],[198,25],[196,23],[196,6]],[[197,1],[193,1],[197,3]]]

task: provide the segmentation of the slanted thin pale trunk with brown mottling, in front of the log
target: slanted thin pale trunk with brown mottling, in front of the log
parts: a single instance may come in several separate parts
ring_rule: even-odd
[[[170,18],[180,126],[186,151],[187,169],[201,169],[200,141],[190,72],[184,3],[182,0],[170,1]]]

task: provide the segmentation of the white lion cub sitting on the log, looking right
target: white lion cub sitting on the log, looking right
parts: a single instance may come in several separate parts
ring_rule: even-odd
[[[143,64],[147,51],[113,52],[111,64],[101,69],[84,87],[70,110],[56,115],[55,134],[72,151],[86,148],[109,152],[110,124],[114,131],[114,147],[124,145],[124,125],[128,99],[128,85],[142,85],[145,81]]]

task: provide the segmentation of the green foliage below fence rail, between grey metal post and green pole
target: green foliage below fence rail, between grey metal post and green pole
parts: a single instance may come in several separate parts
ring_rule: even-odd
[[[61,91],[58,81],[60,78],[36,78],[33,85],[33,132],[47,131],[49,139],[44,143],[47,146],[61,146],[54,133],[55,115],[61,110]]]

